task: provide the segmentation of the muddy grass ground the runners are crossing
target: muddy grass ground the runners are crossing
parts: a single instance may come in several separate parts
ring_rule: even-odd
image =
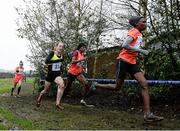
[[[166,119],[154,124],[144,123],[142,111],[138,107],[134,107],[137,109],[132,111],[128,108],[121,110],[121,108],[100,105],[87,108],[81,106],[79,100],[71,103],[68,99],[64,99],[65,109],[59,111],[55,107],[55,97],[45,97],[38,108],[36,107],[38,94],[37,92],[33,94],[33,80],[27,78],[23,83],[21,97],[11,97],[9,92],[12,88],[12,79],[0,79],[0,130],[180,129],[180,119],[175,117],[174,108],[167,106],[161,107],[160,112]],[[92,97],[94,102],[98,99],[97,96]]]

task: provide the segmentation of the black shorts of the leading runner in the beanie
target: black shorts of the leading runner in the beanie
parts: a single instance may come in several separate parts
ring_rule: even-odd
[[[138,64],[130,64],[122,59],[118,59],[116,62],[116,79],[125,79],[126,73],[131,76],[141,72]]]

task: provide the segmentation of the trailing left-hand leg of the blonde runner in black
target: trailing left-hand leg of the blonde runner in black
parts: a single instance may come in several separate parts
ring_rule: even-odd
[[[48,93],[50,89],[50,83],[45,81],[45,85],[44,85],[44,89],[40,92],[39,97],[37,99],[37,106],[40,106],[41,103],[41,99],[43,97],[44,94]]]

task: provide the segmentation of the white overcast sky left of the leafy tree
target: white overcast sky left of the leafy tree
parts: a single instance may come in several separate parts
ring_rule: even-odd
[[[25,70],[30,70],[30,64],[25,57],[28,51],[28,41],[17,37],[17,16],[14,6],[22,0],[1,0],[0,3],[0,69],[14,70],[19,61],[24,62]]]

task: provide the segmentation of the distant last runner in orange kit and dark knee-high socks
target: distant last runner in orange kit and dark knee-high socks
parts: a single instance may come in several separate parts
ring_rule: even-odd
[[[25,73],[24,73],[23,62],[20,61],[19,66],[16,67],[15,69],[14,78],[13,78],[13,88],[11,89],[11,96],[13,96],[14,89],[16,88],[16,86],[18,86],[17,96],[19,97],[19,93],[21,91],[21,85],[24,77],[25,77]]]

